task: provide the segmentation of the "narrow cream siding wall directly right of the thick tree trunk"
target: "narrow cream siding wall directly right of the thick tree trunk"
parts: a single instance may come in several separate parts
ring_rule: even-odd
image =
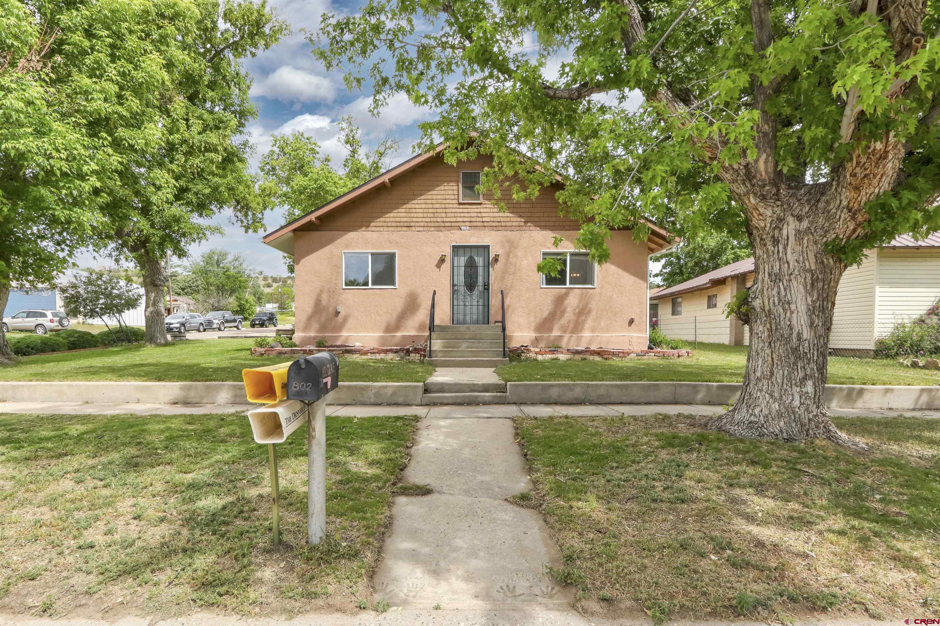
[[[829,347],[870,350],[874,344],[875,267],[883,252],[868,252],[861,266],[849,267],[838,282]]]

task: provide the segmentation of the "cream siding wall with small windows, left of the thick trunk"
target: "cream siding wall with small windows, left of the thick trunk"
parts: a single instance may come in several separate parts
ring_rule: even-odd
[[[718,306],[708,309],[708,296],[718,295]],[[659,300],[659,325],[667,337],[710,344],[728,344],[729,320],[725,305],[729,302],[729,281],[712,289],[682,295],[682,315],[672,314],[672,298]]]

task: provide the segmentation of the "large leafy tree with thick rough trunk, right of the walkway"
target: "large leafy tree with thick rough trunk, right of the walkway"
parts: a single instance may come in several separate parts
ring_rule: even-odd
[[[609,258],[641,218],[745,224],[757,263],[735,435],[858,446],[825,408],[838,280],[866,249],[940,228],[935,1],[366,0],[311,41],[373,106],[440,112],[421,147],[493,156],[483,188],[532,196],[556,174]],[[521,156],[530,155],[529,158]],[[540,270],[550,269],[549,263]]]

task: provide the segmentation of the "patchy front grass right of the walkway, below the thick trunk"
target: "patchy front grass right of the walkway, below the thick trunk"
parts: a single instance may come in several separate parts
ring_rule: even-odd
[[[736,439],[702,418],[519,419],[556,577],[587,614],[880,618],[940,605],[940,420],[841,419],[872,446]]]

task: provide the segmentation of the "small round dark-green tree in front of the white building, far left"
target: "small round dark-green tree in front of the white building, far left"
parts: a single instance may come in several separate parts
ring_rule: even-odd
[[[110,317],[118,322],[124,340],[131,341],[125,330],[127,323],[124,321],[124,313],[136,309],[144,296],[143,290],[133,282],[123,281],[112,272],[87,272],[56,282],[55,289],[70,315],[100,317],[108,330],[111,330],[107,321]]]

